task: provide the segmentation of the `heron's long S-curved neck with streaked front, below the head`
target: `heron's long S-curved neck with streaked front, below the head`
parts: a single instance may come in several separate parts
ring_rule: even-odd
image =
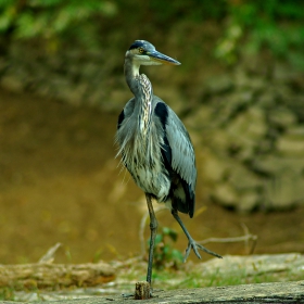
[[[149,78],[144,74],[139,74],[140,65],[125,59],[125,77],[126,81],[135,96],[135,110],[138,112],[138,126],[142,135],[149,130],[152,113],[153,89]]]

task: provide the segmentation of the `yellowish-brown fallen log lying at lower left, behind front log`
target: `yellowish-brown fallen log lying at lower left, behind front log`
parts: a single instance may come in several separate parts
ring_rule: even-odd
[[[86,287],[109,282],[115,277],[115,270],[104,262],[97,264],[23,264],[0,265],[0,287],[56,288]]]

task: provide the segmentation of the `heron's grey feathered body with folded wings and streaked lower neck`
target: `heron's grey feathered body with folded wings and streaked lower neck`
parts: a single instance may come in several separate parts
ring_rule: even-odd
[[[197,169],[189,134],[174,111],[153,94],[144,74],[136,81],[142,84],[144,99],[132,98],[119,115],[116,139],[123,163],[144,193],[192,217]],[[137,119],[147,112],[145,119]]]

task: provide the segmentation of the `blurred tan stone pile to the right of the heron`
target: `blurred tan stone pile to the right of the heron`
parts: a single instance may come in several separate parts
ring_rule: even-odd
[[[249,212],[304,204],[304,81],[238,68],[210,79],[187,125],[202,161],[206,192]]]

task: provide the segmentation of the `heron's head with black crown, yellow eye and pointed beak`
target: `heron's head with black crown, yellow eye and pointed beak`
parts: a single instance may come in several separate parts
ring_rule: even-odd
[[[136,65],[179,65],[180,62],[160,53],[154,46],[145,40],[136,40],[126,52],[126,59],[130,59]]]

